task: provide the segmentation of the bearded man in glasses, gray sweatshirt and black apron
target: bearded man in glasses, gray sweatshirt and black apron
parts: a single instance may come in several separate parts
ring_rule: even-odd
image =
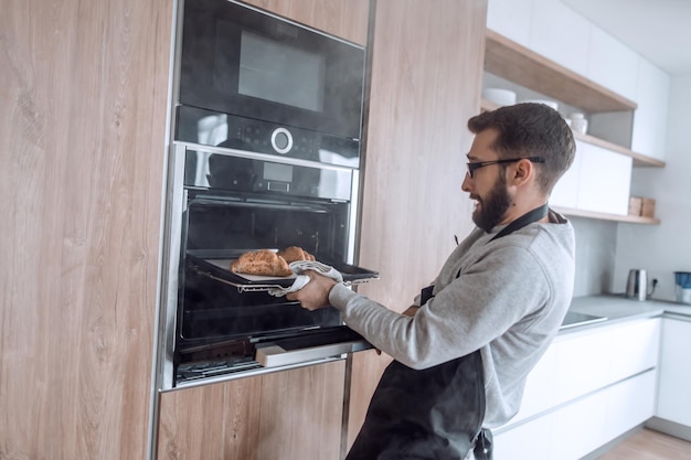
[[[315,272],[288,295],[309,310],[336,307],[394,359],[349,460],[460,460],[474,445],[476,457],[491,458],[478,446],[491,442],[480,427],[518,413],[525,377],[570,306],[574,232],[548,208],[573,162],[570,128],[541,104],[483,113],[468,128],[476,136],[463,190],[477,228],[414,306],[401,314]]]

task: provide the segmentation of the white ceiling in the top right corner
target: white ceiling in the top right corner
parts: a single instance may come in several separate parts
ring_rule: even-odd
[[[691,0],[562,0],[669,75],[691,75]]]

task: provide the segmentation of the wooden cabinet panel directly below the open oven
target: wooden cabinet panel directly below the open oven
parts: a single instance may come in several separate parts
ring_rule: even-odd
[[[338,460],[346,362],[161,395],[158,458]]]

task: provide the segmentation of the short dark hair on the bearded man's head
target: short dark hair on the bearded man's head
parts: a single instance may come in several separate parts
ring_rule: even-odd
[[[556,181],[573,163],[576,145],[564,118],[544,104],[522,103],[485,111],[468,120],[468,129],[479,133],[486,129],[499,132],[492,149],[500,159],[543,157],[536,164],[538,183],[551,193]]]

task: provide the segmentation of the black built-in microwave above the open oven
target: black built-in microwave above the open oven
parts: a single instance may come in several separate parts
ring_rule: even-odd
[[[362,46],[228,0],[185,1],[181,46],[181,106],[287,127],[278,153],[290,128],[360,139]]]

